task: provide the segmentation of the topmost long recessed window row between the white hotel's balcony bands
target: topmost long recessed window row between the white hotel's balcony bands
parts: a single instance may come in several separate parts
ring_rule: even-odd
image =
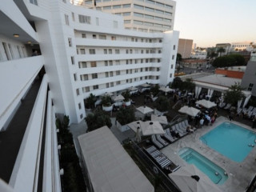
[[[118,38],[118,41],[124,41],[124,42],[127,42],[127,41],[130,41],[130,42],[139,42],[138,41],[138,38],[128,38],[126,36],[106,36],[106,34],[87,34],[87,36],[89,38],[98,38],[98,39],[103,39],[103,40],[112,40],[112,41],[116,41],[117,38]],[[86,36],[86,34],[81,34],[81,37],[82,38],[88,38]],[[71,43],[70,42],[71,39],[69,39],[69,44]],[[162,42],[162,39],[161,38],[140,38],[140,42]]]

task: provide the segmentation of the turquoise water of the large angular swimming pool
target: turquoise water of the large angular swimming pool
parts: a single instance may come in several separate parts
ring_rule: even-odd
[[[200,140],[210,148],[218,151],[234,162],[242,162],[250,151],[256,147],[256,134],[230,122],[223,122]]]

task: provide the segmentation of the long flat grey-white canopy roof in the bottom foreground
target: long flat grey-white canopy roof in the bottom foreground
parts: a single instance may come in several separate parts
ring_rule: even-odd
[[[78,136],[94,192],[154,192],[154,187],[107,126]]]

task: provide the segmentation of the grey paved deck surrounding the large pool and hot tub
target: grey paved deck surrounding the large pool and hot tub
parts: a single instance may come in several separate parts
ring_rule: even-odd
[[[222,169],[226,170],[229,177],[226,182],[219,187],[223,192],[241,192],[245,191],[246,187],[249,186],[250,181],[254,178],[256,173],[256,147],[251,150],[250,154],[246,157],[243,162],[234,162],[229,158],[226,158],[217,151],[211,149],[210,147],[202,144],[200,137],[210,130],[213,130],[216,126],[222,124],[222,122],[230,122],[227,118],[219,117],[214,122],[213,126],[203,126],[202,129],[196,130],[193,134],[188,134],[184,138],[179,139],[177,142],[166,146],[162,149],[162,153],[166,157],[170,158],[175,164],[180,166],[186,166],[187,163],[178,156],[178,151],[184,147],[190,147],[198,153],[202,154],[210,161],[214,162],[216,165],[221,166]],[[254,131],[250,126],[246,126],[239,122],[232,123],[242,126],[248,130]],[[254,131],[255,132],[255,131]]]

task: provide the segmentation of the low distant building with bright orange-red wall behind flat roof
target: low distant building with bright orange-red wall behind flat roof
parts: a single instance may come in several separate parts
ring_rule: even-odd
[[[228,78],[242,79],[245,74],[246,66],[231,66],[227,68],[217,68],[215,74],[223,74]]]

